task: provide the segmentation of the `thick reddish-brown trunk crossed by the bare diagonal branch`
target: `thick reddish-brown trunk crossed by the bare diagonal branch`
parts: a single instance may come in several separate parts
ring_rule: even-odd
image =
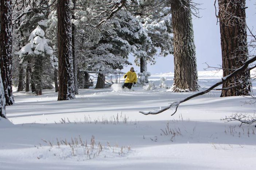
[[[248,59],[245,0],[218,0],[218,5],[222,69],[225,77]],[[225,82],[222,88],[225,89],[222,90],[221,97],[249,95],[251,91],[249,70]]]

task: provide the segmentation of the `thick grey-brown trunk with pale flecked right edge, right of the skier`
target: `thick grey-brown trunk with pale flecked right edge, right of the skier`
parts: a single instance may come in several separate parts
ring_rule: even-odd
[[[172,0],[172,27],[174,32],[173,92],[198,90],[194,31],[189,0]]]

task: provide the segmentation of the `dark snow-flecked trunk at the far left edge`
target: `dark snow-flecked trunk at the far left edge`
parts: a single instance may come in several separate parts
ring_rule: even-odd
[[[12,1],[0,0],[0,68],[5,104],[14,103],[12,96]]]

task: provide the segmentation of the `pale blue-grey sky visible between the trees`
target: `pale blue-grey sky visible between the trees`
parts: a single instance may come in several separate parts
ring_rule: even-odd
[[[197,69],[202,71],[207,67],[207,62],[211,66],[221,65],[221,45],[220,45],[220,25],[216,25],[217,19],[215,16],[214,0],[194,0],[195,3],[200,3],[199,8],[201,18],[193,19],[194,38],[197,56]],[[246,0],[246,15],[247,25],[256,33],[256,0]],[[173,56],[159,57],[156,59],[155,65],[148,65],[148,71],[155,73],[174,72]],[[133,63],[133,57],[129,58]],[[133,65],[138,72],[140,68]],[[125,68],[123,71],[129,70]]]

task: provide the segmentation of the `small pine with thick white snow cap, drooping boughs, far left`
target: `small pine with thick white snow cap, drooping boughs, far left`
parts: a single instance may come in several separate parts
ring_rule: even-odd
[[[50,61],[53,68],[56,67],[57,63],[53,54],[53,49],[47,44],[47,39],[44,37],[44,31],[39,26],[31,32],[28,39],[29,43],[22,47],[19,51],[21,62],[30,61],[31,58],[34,60],[32,67],[32,75],[35,83],[35,93],[37,95],[42,94],[43,87],[43,74],[44,65],[47,61]],[[55,59],[55,60],[54,60]]]

